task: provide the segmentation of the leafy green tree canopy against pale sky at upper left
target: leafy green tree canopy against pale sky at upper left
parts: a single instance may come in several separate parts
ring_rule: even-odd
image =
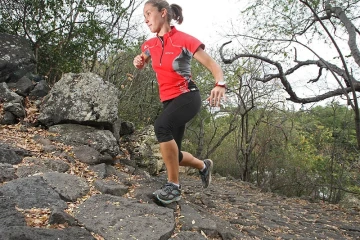
[[[66,72],[92,71],[123,48],[135,33],[131,17],[139,2],[0,0],[0,30],[26,37],[38,73],[55,82]]]

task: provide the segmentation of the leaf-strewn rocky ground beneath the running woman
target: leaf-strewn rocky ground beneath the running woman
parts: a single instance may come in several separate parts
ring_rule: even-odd
[[[64,173],[57,172],[63,166],[57,165],[31,175],[34,169],[47,171],[43,161],[25,157],[12,164],[18,178],[0,185],[2,239],[360,239],[358,208],[284,198],[221,176],[203,189],[197,175],[182,174],[183,199],[162,206],[151,193],[165,182],[165,173],[149,176],[132,167],[131,159],[94,170],[78,163],[71,148],[52,143],[47,149],[36,141],[48,135],[21,125],[0,128],[2,143],[26,149],[38,160],[69,165]],[[107,167],[112,174],[99,170]],[[48,207],[40,206],[40,200]],[[54,221],[64,212],[65,223]]]

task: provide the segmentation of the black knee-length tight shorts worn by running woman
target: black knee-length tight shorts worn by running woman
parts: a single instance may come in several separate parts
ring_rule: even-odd
[[[185,132],[185,125],[199,111],[201,97],[199,91],[187,92],[180,96],[163,102],[163,111],[155,121],[155,134],[157,140],[168,142],[175,140],[179,148],[181,161],[181,141]]]

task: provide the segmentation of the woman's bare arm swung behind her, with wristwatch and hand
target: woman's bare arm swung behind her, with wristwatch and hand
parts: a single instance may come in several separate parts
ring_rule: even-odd
[[[215,85],[217,82],[224,81],[224,73],[220,65],[215,62],[215,60],[209,56],[202,48],[198,48],[194,53],[194,58],[198,60],[202,65],[204,65],[215,78]],[[225,87],[215,86],[210,93],[210,96],[207,98],[211,106],[220,106],[221,98],[225,100]]]

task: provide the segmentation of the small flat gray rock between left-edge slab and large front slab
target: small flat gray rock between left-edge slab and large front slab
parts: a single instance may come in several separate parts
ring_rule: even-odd
[[[71,174],[46,173],[43,178],[66,201],[74,202],[85,196],[90,190],[84,179]]]

